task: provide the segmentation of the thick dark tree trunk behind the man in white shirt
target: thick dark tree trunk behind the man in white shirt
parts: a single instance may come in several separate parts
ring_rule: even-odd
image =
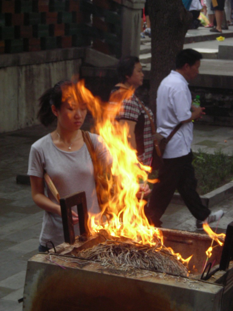
[[[175,69],[176,54],[183,49],[191,21],[182,0],[148,0],[151,22],[150,107],[156,114],[160,82]]]

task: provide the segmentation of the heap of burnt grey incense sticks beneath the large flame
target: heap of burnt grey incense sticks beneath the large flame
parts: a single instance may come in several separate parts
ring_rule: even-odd
[[[158,249],[160,245],[158,245]],[[155,272],[187,276],[187,268],[166,248],[107,240],[76,253],[76,256],[101,262],[106,268],[130,272],[145,269]]]

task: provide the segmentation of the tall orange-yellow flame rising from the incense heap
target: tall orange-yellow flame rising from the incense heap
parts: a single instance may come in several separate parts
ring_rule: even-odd
[[[103,196],[107,195],[108,201],[102,206],[99,214],[89,213],[88,227],[91,234],[105,229],[114,237],[156,246],[156,250],[159,251],[165,248],[162,232],[148,223],[144,214],[146,201],[143,197],[140,200],[136,197],[139,181],[147,181],[151,168],[139,162],[136,151],[129,145],[127,125],[120,126],[115,122],[122,100],[132,95],[133,91],[131,89],[113,94],[110,98],[112,104],[104,105],[85,88],[84,81],[79,81],[75,84],[75,89],[70,89],[71,96],[77,100],[80,96],[87,104],[95,121],[95,132],[103,137],[112,155],[111,171],[114,178],[108,177],[108,187],[103,193]],[[187,263],[191,258],[185,260],[171,248],[167,249],[183,263]]]

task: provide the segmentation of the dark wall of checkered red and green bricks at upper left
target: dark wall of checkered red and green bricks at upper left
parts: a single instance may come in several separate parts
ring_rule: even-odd
[[[120,56],[121,1],[2,0],[0,53],[93,46]]]

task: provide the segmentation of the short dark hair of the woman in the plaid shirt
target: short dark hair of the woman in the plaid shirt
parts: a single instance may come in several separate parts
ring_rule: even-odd
[[[139,58],[136,56],[125,56],[120,59],[117,64],[117,73],[120,82],[125,83],[126,76],[132,76],[136,63],[139,63]]]

